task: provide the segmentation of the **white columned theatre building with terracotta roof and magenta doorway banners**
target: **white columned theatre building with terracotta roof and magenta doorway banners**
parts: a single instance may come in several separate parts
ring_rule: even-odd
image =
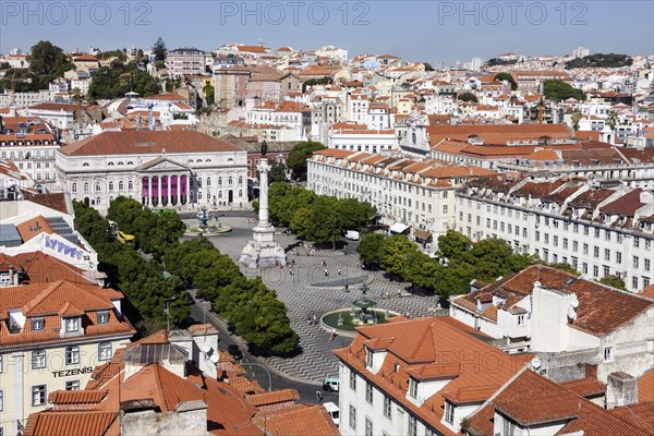
[[[58,182],[101,213],[125,196],[148,207],[245,206],[246,152],[196,131],[104,132],[61,147]]]

